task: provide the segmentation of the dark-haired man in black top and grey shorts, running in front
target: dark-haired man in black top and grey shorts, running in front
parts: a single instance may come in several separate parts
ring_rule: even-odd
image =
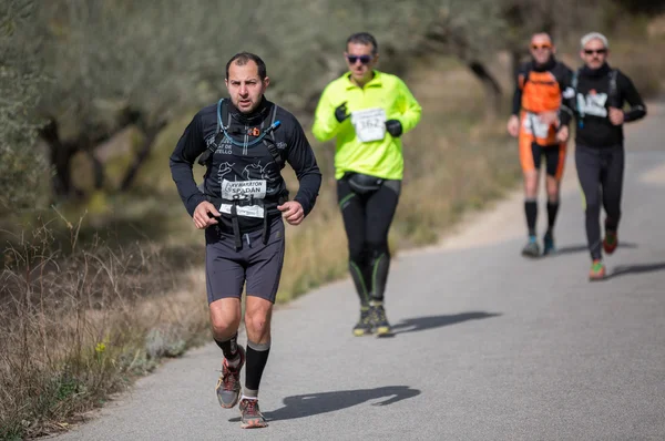
[[[194,225],[205,229],[213,337],[224,353],[217,399],[223,408],[239,400],[242,427],[263,428],[267,423],[258,408],[258,387],[270,349],[270,317],[284,263],[283,218],[299,225],[311,212],[321,173],[296,117],[264,96],[269,79],[259,57],[234,55],[226,64],[225,82],[231,100],[219,100],[194,116],[170,165]],[[200,155],[207,168],[197,187],[192,165]],[[285,162],[299,181],[293,201],[280,173]],[[246,350],[237,345],[245,281]]]

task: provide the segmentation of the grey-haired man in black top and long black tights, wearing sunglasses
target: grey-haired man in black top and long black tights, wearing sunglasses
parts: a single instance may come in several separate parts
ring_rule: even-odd
[[[586,238],[592,266],[590,280],[605,277],[601,250],[601,204],[605,208],[602,248],[614,253],[618,244],[624,171],[623,124],[646,115],[646,105],[628,76],[607,63],[607,39],[591,32],[581,40],[582,66],[573,76],[575,98],[569,106],[577,120],[575,165],[584,193]],[[624,103],[630,109],[624,111]]]

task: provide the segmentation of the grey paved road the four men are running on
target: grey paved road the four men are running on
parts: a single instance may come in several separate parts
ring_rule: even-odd
[[[515,193],[439,246],[396,258],[387,293],[393,338],[351,336],[349,280],[276,312],[262,383],[268,428],[244,431],[237,409],[217,406],[221,353],[208,345],[59,438],[665,439],[664,109],[652,104],[627,133],[622,245],[606,259],[607,280],[586,279],[569,161],[557,256],[519,255]]]

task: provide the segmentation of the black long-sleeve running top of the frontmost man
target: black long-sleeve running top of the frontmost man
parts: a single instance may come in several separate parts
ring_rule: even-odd
[[[223,199],[223,184],[237,186],[243,185],[243,182],[265,181],[263,192],[266,202],[276,202],[277,197],[286,191],[286,183],[280,174],[282,170],[277,166],[269,150],[263,142],[248,145],[255,137],[253,134],[255,130],[260,131],[262,127],[266,129],[270,124],[275,104],[264,98],[258,107],[249,115],[241,113],[231,103],[231,100],[227,100],[225,105],[228,105],[231,114],[228,133],[234,139],[241,140],[244,145],[234,145],[223,136],[217,137],[217,141],[221,139],[217,143],[217,104],[212,104],[194,115],[170,157],[173,181],[191,216],[202,202]],[[296,117],[278,106],[276,120],[280,124],[273,132],[275,145],[296,173],[299,188],[294,201],[300,203],[305,215],[308,215],[318,196],[321,173],[314,151]],[[194,181],[192,166],[194,161],[208,147],[215,153],[212,155],[212,162],[208,163],[203,183],[204,193],[202,193]],[[284,163],[282,167],[284,167]],[[219,209],[219,207],[216,208]],[[269,217],[279,216],[279,212],[275,208],[269,209],[268,214]],[[241,229],[244,232],[258,229],[263,225],[263,219],[257,217],[239,216],[239,222]],[[229,228],[231,216],[222,213],[221,224],[223,227]]]

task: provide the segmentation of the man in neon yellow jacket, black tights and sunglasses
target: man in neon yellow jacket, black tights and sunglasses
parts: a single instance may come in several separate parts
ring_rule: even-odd
[[[386,336],[388,230],[403,176],[400,136],[420,122],[422,109],[402,80],[375,69],[379,53],[371,34],[350,35],[344,55],[349,71],[324,90],[313,133],[321,142],[336,137],[337,197],[360,298],[354,335]]]

